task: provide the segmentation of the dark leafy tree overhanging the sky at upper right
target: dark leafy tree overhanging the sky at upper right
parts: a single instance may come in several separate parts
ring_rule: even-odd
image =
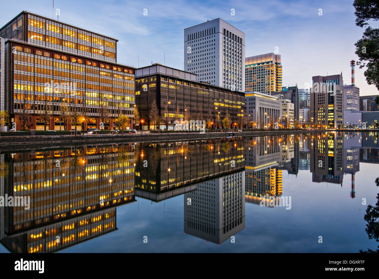
[[[355,0],[356,25],[364,27],[368,20],[379,20],[379,3],[377,0]],[[367,67],[364,75],[368,84],[373,84],[379,90],[379,29],[368,26],[363,32],[362,39],[356,43],[356,54],[359,57],[357,65],[360,69]]]

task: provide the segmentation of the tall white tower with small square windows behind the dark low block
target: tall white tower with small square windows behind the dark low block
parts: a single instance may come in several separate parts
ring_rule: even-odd
[[[245,91],[245,33],[218,18],[184,29],[184,71],[197,81]]]

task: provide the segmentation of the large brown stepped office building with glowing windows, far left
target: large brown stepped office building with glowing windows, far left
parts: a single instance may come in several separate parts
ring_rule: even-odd
[[[26,11],[0,34],[6,38],[1,106],[17,130],[86,130],[100,122],[112,129],[120,114],[133,120],[135,68],[116,63],[116,39]],[[74,111],[85,120],[71,123],[67,114]]]

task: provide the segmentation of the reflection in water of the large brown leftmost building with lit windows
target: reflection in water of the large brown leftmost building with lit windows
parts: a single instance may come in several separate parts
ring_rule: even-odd
[[[2,195],[30,196],[30,209],[0,207],[11,252],[54,252],[116,230],[117,205],[135,201],[134,145],[4,154]]]

